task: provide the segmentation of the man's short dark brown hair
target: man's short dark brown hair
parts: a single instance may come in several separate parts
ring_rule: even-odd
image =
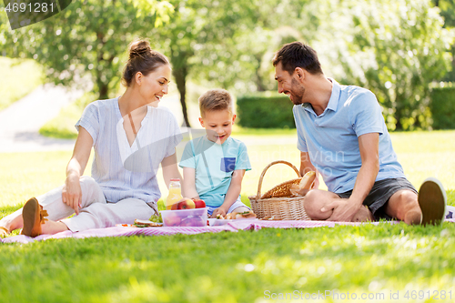
[[[273,66],[277,66],[280,62],[283,70],[290,75],[294,74],[296,67],[301,67],[312,75],[322,74],[316,51],[298,41],[281,46],[272,60]]]

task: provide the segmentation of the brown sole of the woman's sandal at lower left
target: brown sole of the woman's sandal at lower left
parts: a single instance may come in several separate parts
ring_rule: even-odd
[[[47,211],[39,205],[35,197],[29,199],[22,210],[22,217],[24,219],[24,227],[22,228],[22,235],[28,237],[36,237],[42,234],[41,224],[47,220]]]

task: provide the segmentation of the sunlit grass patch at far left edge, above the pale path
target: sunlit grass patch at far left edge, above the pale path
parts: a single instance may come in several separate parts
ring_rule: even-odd
[[[41,67],[30,59],[11,59],[0,56],[0,110],[32,92],[43,84]]]

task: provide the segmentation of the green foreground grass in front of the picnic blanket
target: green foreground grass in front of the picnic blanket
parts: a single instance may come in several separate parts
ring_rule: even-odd
[[[454,233],[449,223],[399,224],[2,245],[8,282],[0,284],[0,296],[97,303],[265,302],[266,290],[385,298],[390,290],[401,298],[406,289],[451,290],[453,296],[454,240],[446,235]]]

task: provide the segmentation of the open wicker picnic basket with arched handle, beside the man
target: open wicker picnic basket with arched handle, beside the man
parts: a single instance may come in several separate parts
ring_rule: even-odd
[[[286,164],[294,169],[298,178],[288,180],[279,184],[276,187],[268,190],[267,193],[261,196],[262,180],[266,175],[269,167],[278,163]],[[297,167],[294,167],[288,161],[278,160],[270,163],[259,177],[258,194],[249,197],[251,208],[258,218],[273,217],[275,220],[310,220],[303,207],[303,197],[290,197],[289,187],[292,184],[299,184],[301,180],[300,173]]]

